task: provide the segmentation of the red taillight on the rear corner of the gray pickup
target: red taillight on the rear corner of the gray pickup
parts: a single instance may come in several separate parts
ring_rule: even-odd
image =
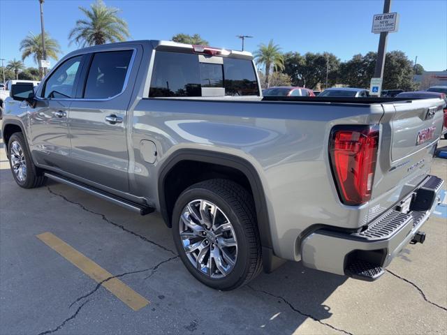
[[[379,125],[332,128],[330,163],[344,204],[364,204],[371,198],[378,147]]]

